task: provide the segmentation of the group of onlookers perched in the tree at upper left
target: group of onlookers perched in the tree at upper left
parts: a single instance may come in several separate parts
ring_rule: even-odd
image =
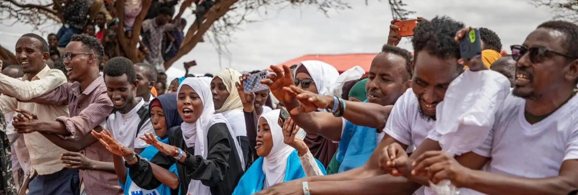
[[[143,1],[124,1],[123,17],[119,16],[116,1],[110,0],[66,0],[62,11],[63,25],[57,33],[50,33],[50,59],[55,62],[64,59],[64,48],[73,35],[84,34],[96,37],[105,48],[102,56],[101,70],[109,59],[117,56],[127,56],[126,52],[136,52],[138,59],[133,62],[144,62],[153,65],[158,71],[164,72],[169,66],[164,62],[177,55],[184,40],[184,28],[187,20],[181,18],[184,9],[195,3],[197,9],[206,4],[212,5],[212,0],[187,0],[179,10],[175,10],[178,0],[153,1],[146,12],[146,17],[140,25],[140,41],[136,48],[123,48],[118,38],[118,32],[124,32],[131,39],[135,20],[143,9]],[[209,7],[210,8],[210,7]],[[179,11],[177,16],[175,11]],[[123,18],[120,22],[119,18]],[[122,24],[123,26],[118,26]],[[121,31],[118,30],[121,28]],[[124,46],[128,47],[128,46]]]

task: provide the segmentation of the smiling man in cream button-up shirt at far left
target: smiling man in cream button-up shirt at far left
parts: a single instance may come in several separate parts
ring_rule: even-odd
[[[48,93],[66,83],[60,70],[50,70],[49,45],[36,34],[26,34],[16,42],[16,59],[24,77],[15,79],[0,74],[0,109],[10,113],[16,109],[42,113],[42,120],[68,117],[66,105],[43,105],[25,103],[17,99],[27,99]],[[9,120],[11,120],[10,118]],[[18,130],[17,127],[14,129]],[[18,137],[21,135],[22,137]],[[14,152],[23,173],[17,178],[27,178],[28,174],[38,174],[28,185],[28,194],[77,194],[79,175],[77,170],[66,169],[58,158],[66,150],[57,147],[38,132],[17,134],[13,138]]]

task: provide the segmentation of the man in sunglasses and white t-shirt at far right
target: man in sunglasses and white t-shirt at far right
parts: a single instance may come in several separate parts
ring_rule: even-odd
[[[415,171],[490,195],[569,194],[578,188],[578,25],[549,21],[513,45],[514,89],[497,114],[487,171],[427,152]],[[472,163],[485,163],[472,162]],[[425,171],[428,170],[428,171]]]

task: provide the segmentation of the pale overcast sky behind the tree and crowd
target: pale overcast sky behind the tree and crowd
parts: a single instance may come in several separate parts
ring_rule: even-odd
[[[351,2],[353,9],[331,12],[329,17],[316,7],[288,8],[280,12],[269,10],[264,16],[265,21],[240,26],[242,30],[234,33],[234,43],[228,44],[232,58],[230,61],[223,58],[221,65],[250,71],[305,54],[379,52],[381,45],[386,43],[392,19],[387,1],[369,0],[368,6],[362,0],[346,1]],[[501,37],[507,51],[509,45],[522,43],[532,29],[552,17],[549,9],[536,8],[528,0],[403,2],[409,5],[407,9],[416,11],[416,16],[433,18],[447,15],[466,25],[490,28]],[[194,20],[190,15],[186,18]],[[51,28],[54,32],[58,30],[58,26]],[[31,31],[31,26],[26,25],[0,25],[0,44],[13,51],[17,36]],[[412,50],[407,40],[399,46]],[[182,70],[180,64],[188,60],[197,60],[198,63],[191,72],[214,73],[220,70],[216,49],[210,43],[199,43],[177,61],[175,67]]]

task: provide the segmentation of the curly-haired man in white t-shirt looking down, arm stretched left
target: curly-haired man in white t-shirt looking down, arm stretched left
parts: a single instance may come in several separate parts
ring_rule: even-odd
[[[360,192],[364,192],[364,194],[384,194],[384,192],[387,194],[408,194],[419,188],[420,184],[427,186],[427,178],[424,177],[409,177],[408,179],[386,174],[386,171],[380,169],[379,159],[381,159],[381,151],[394,143],[401,146],[399,150],[404,152],[409,147],[416,147],[412,156],[423,154],[424,151],[428,150],[441,150],[438,142],[427,139],[427,137],[435,125],[436,105],[443,101],[444,93],[450,82],[464,70],[464,65],[458,63],[460,46],[454,41],[455,32],[462,28],[464,28],[464,24],[461,22],[454,21],[449,17],[436,17],[431,21],[420,22],[414,29],[412,43],[416,55],[414,56],[415,66],[411,80],[412,89],[407,89],[395,102],[384,128],[386,136],[373,151],[371,158],[362,167],[363,169],[354,169],[325,178],[308,177],[299,179],[299,181],[282,183],[268,190],[263,190],[259,194],[302,193],[302,186],[304,185],[307,185],[312,194],[358,194]],[[477,66],[476,68],[483,69],[484,66]],[[368,98],[370,97],[369,91]],[[297,98],[302,99],[299,96]],[[303,101],[300,100],[299,102],[302,103]],[[301,106],[303,107],[303,105]],[[487,145],[484,146],[487,147]],[[472,158],[471,156],[478,157],[480,155],[468,152],[462,156],[468,158],[465,160],[467,162],[469,158]],[[485,157],[480,156],[480,158]],[[483,164],[466,166],[480,169]],[[392,174],[399,174],[399,172]],[[416,193],[423,193],[423,190],[420,189]]]

